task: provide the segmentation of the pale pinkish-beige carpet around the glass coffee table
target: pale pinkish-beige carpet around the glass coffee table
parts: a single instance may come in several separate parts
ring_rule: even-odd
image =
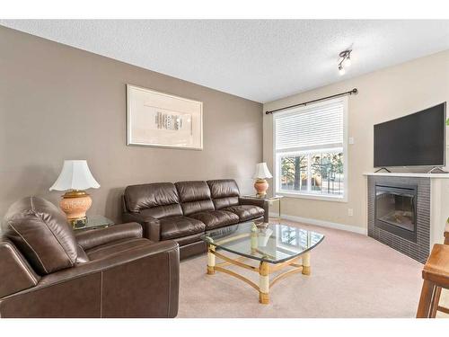
[[[206,274],[207,256],[180,264],[178,317],[414,317],[422,264],[365,235],[308,226],[326,235],[311,255],[312,275],[280,280],[270,304],[224,273]],[[252,279],[258,279],[252,273]]]

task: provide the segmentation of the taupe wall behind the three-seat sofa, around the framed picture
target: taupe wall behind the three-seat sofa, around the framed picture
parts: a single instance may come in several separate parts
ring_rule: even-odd
[[[129,184],[236,179],[251,191],[262,158],[262,106],[0,26],[0,217],[48,191],[64,159],[86,159],[101,184],[90,214],[119,220]],[[126,146],[126,84],[204,103],[204,150]]]

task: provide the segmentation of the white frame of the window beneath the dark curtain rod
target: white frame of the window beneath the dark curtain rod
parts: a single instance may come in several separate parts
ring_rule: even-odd
[[[280,179],[280,165],[277,162],[278,155],[288,155],[288,154],[298,154],[298,153],[316,153],[322,152],[322,150],[332,150],[336,147],[329,147],[329,145],[325,146],[308,146],[308,148],[304,148],[303,150],[293,150],[286,151],[284,153],[277,153],[276,151],[276,122],[277,118],[283,117],[286,115],[294,115],[301,113],[306,109],[309,109],[311,106],[319,107],[322,105],[329,104],[330,102],[342,102],[343,103],[343,194],[339,196],[333,195],[322,195],[318,193],[304,192],[304,191],[296,191],[296,192],[287,192],[279,189],[279,179]],[[273,115],[273,184],[274,191],[277,195],[282,195],[290,198],[299,198],[299,199],[310,199],[310,200],[326,200],[326,201],[337,201],[337,202],[348,202],[348,97],[343,96],[336,99],[326,100],[323,102],[316,102],[313,104],[308,104],[303,107],[296,107],[286,111],[279,111],[276,115]]]

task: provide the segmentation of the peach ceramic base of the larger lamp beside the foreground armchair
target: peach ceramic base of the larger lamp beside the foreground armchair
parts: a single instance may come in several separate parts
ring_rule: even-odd
[[[67,220],[72,226],[82,226],[85,212],[92,206],[92,198],[85,191],[67,191],[59,202],[60,208],[66,213]]]

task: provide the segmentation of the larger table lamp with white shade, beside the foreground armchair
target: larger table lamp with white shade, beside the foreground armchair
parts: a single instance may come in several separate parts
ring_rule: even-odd
[[[98,189],[100,184],[93,178],[85,160],[65,160],[57,181],[49,191],[66,191],[59,203],[72,226],[85,226],[85,212],[91,208],[92,199],[84,190]]]

